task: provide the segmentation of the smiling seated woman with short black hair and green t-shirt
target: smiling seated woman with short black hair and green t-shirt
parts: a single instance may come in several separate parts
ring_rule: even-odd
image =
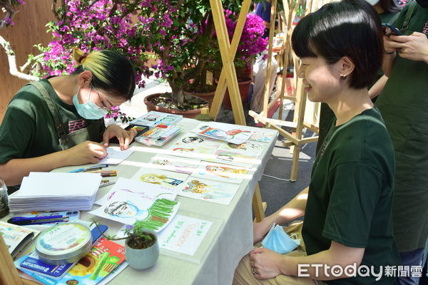
[[[393,276],[373,273],[399,264],[391,214],[394,150],[367,90],[382,63],[379,17],[362,0],[326,4],[300,20],[292,48],[307,97],[327,103],[336,119],[315,159],[309,189],[253,225],[259,242],[273,224],[305,215],[304,247],[300,242],[297,251],[282,255],[256,244],[240,261],[233,284],[393,284]],[[290,227],[285,231],[300,235],[296,224]],[[342,271],[332,274],[327,266]],[[350,274],[347,266],[371,269]]]

